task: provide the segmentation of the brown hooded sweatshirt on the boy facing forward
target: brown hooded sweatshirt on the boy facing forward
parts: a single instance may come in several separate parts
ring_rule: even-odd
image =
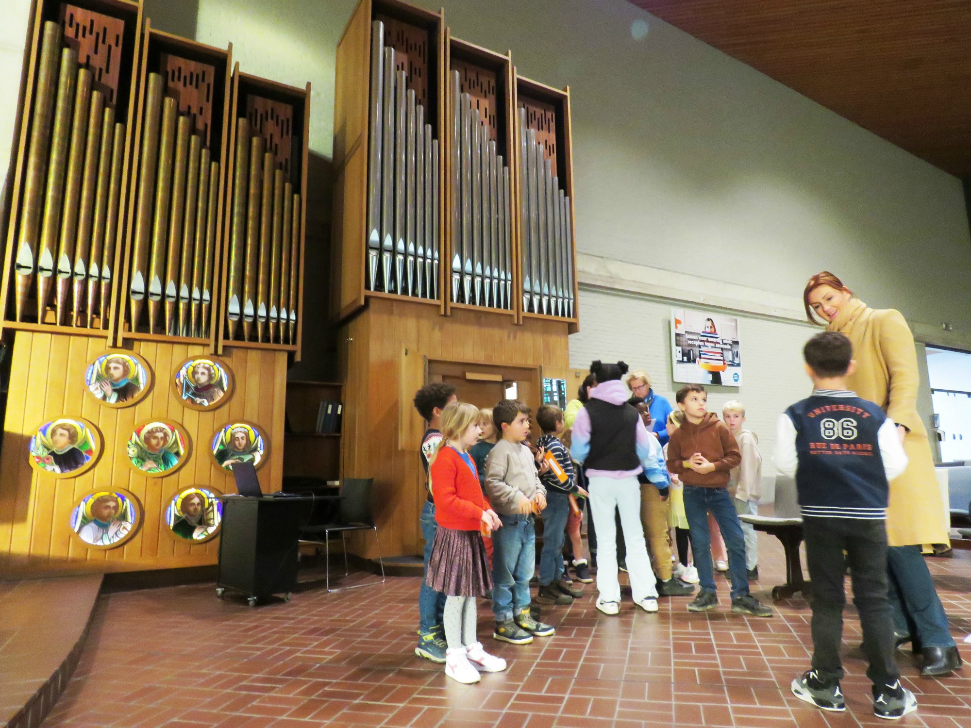
[[[695,452],[700,452],[715,466],[711,473],[702,475],[685,467]],[[667,466],[686,485],[723,488],[728,485],[729,473],[742,462],[735,436],[728,425],[715,413],[705,413],[698,424],[685,418],[684,424],[671,435],[668,442]]]

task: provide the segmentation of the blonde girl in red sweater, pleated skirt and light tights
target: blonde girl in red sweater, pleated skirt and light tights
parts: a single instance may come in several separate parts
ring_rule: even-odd
[[[459,682],[479,681],[480,671],[498,673],[506,661],[485,652],[476,639],[476,597],[492,588],[483,534],[501,522],[488,506],[468,449],[479,442],[479,410],[452,402],[442,412],[442,443],[431,466],[438,530],[425,582],[446,595],[445,674]]]

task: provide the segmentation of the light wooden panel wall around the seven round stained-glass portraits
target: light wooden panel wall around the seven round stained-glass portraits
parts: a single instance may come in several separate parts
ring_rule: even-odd
[[[218,539],[190,545],[172,538],[164,513],[170,498],[189,485],[236,492],[232,475],[209,452],[216,428],[230,420],[260,425],[269,441],[268,461],[258,471],[264,490],[283,478],[286,353],[227,348],[221,356],[236,377],[230,401],[212,412],[184,408],[172,390],[175,368],[207,347],[135,342],[133,351],[151,366],[151,392],[133,407],[112,409],[84,386],[88,364],[105,350],[103,339],[18,331],[11,362],[10,395],[0,455],[0,574],[76,574],[141,571],[215,564]],[[75,479],[54,479],[30,467],[27,444],[34,428],[55,417],[82,416],[101,432],[97,464]],[[135,423],[151,417],[181,423],[191,440],[188,461],[173,475],[147,478],[127,463],[125,444]],[[117,548],[87,548],[72,537],[70,515],[95,489],[125,488],[138,498],[138,533]]]

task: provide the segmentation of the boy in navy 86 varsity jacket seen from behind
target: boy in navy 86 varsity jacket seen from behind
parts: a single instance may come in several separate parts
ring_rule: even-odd
[[[780,415],[775,456],[779,471],[795,477],[813,589],[813,669],[792,680],[792,692],[824,711],[846,710],[840,642],[849,564],[873,711],[899,718],[916,711],[917,700],[893,660],[886,509],[889,481],[904,472],[907,455],[893,421],[847,389],[855,362],[845,335],[817,334],[803,356],[813,394]]]

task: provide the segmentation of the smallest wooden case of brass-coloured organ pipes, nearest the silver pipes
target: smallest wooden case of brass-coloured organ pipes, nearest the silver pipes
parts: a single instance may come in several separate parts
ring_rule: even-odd
[[[233,73],[218,344],[300,359],[310,83]]]

